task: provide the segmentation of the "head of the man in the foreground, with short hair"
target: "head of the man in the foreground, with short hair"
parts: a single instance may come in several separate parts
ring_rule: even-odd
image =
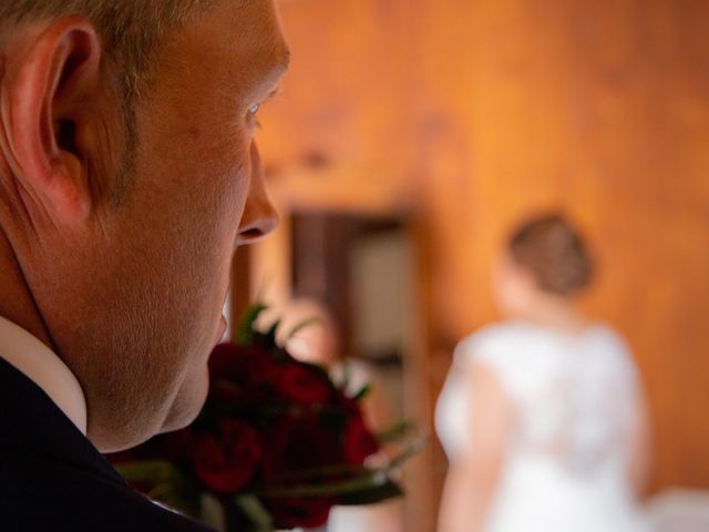
[[[253,141],[273,0],[6,0],[0,226],[100,449],[206,395],[235,244],[276,224]]]

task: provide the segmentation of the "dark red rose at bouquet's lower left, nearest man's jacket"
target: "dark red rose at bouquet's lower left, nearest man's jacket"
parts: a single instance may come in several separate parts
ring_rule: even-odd
[[[260,457],[254,429],[236,419],[222,419],[217,434],[205,433],[197,439],[193,464],[209,491],[229,494],[253,479]]]

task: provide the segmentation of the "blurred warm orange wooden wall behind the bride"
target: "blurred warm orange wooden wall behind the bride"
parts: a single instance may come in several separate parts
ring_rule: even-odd
[[[493,319],[487,265],[511,224],[565,206],[603,264],[585,306],[626,334],[647,381],[655,487],[709,488],[709,3],[281,10],[292,71],[259,133],[276,188],[417,213],[446,347]]]

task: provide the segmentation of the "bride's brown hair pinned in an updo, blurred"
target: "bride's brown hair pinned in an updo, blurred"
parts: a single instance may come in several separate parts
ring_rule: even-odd
[[[545,291],[569,296],[593,279],[594,264],[586,243],[559,213],[522,224],[513,233],[507,248],[514,262],[531,270]]]

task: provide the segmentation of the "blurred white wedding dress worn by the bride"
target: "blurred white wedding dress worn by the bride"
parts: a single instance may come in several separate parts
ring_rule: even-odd
[[[644,532],[627,479],[639,383],[625,342],[606,326],[566,334],[505,321],[463,340],[439,399],[452,460],[474,446],[465,367],[499,378],[514,429],[485,532]],[[473,423],[467,441],[466,423]]]

